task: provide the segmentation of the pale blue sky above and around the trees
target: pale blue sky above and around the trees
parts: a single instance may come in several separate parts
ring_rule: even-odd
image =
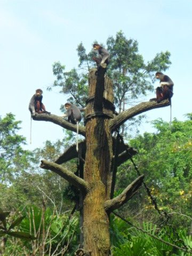
[[[60,61],[66,70],[77,68],[79,43],[89,52],[94,40],[105,45],[109,36],[122,30],[127,39],[138,41],[146,62],[156,53],[171,52],[172,65],[165,74],[174,82],[172,117],[184,121],[191,112],[191,13],[191,0],[0,0],[0,116],[11,112],[22,121],[26,149],[62,139],[62,127],[33,121],[30,144],[30,98],[41,88],[46,110],[60,116],[67,96],[59,88],[46,91],[55,79],[53,63]],[[147,122],[170,120],[169,107],[146,114]],[[140,130],[154,131],[146,122]]]

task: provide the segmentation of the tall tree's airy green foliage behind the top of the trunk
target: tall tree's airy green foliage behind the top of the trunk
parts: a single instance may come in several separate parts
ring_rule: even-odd
[[[119,111],[122,111],[127,102],[130,103],[139,95],[146,95],[147,91],[153,90],[154,73],[166,70],[171,64],[168,51],[157,53],[154,59],[145,63],[139,54],[138,42],[127,39],[122,31],[118,31],[115,38],[110,36],[107,39],[107,50],[110,53],[107,75],[114,82],[115,103]],[[84,106],[87,97],[87,70],[96,67],[92,58],[97,52],[92,49],[86,53],[81,42],[77,46],[77,54],[81,71],[74,68],[66,72],[65,65],[55,62],[53,74],[57,79],[53,86],[60,86],[62,93],[70,95],[68,100]]]

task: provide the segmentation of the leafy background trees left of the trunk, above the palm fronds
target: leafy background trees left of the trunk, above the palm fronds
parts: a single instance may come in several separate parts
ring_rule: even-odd
[[[63,197],[67,182],[39,168],[41,158],[53,161],[63,151],[63,142],[45,142],[45,147],[34,151],[24,150],[26,139],[19,135],[21,121],[15,121],[9,113],[0,118],[0,205],[2,209],[15,211],[26,204],[41,207],[44,198],[47,206],[57,205],[58,213],[68,210],[68,199]],[[66,164],[76,171],[76,162]],[[7,199],[9,198],[9,200]]]

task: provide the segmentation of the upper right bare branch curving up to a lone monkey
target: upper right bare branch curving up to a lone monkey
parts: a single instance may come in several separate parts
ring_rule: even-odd
[[[137,116],[151,109],[162,108],[167,106],[170,106],[169,100],[163,100],[160,103],[157,103],[156,101],[141,102],[138,105],[121,112],[114,119],[111,119],[110,130],[114,131],[133,116]]]

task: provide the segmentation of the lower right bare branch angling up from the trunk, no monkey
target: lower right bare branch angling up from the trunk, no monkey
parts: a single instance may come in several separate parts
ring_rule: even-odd
[[[104,204],[106,212],[110,213],[111,211],[114,211],[115,209],[118,209],[124,205],[137,192],[138,188],[142,184],[143,179],[144,175],[140,175],[128,187],[126,187],[119,196],[107,200]]]

